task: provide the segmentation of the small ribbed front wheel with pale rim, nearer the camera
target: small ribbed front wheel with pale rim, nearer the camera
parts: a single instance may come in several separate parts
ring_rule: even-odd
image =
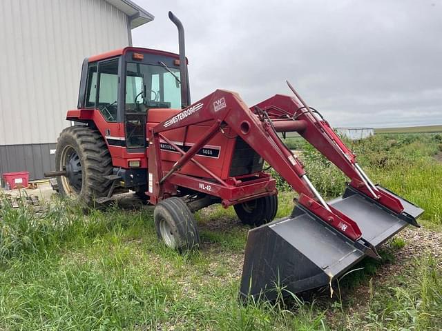
[[[160,201],[153,210],[158,237],[167,247],[184,252],[198,248],[200,235],[193,214],[182,199],[172,197]]]

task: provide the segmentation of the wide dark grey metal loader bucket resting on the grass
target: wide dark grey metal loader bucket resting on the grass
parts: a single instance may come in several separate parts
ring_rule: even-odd
[[[378,189],[385,190],[380,186]],[[240,297],[272,300],[278,295],[276,288],[296,294],[328,285],[373,252],[367,243],[376,248],[409,223],[419,226],[416,218],[423,210],[394,196],[404,206],[401,214],[350,186],[343,197],[329,201],[358,223],[363,240],[345,237],[302,205],[297,205],[290,217],[250,230]]]

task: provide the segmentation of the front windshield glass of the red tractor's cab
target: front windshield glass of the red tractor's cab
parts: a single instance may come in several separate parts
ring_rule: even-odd
[[[180,79],[180,70],[169,68]],[[148,108],[181,108],[181,89],[177,79],[161,66],[127,63],[126,104],[124,110],[146,111]]]

